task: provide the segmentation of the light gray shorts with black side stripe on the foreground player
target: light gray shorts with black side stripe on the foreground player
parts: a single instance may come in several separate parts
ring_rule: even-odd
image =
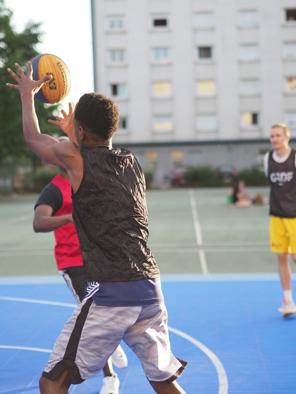
[[[43,376],[56,380],[67,368],[71,383],[98,374],[121,340],[141,361],[150,381],[174,381],[187,362],[170,351],[164,304],[138,307],[97,307],[92,298],[74,309],[64,325]]]

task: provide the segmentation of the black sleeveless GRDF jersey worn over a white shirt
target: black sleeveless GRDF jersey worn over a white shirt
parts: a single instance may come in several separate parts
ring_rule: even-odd
[[[270,214],[279,217],[296,217],[296,169],[295,153],[283,163],[277,163],[270,152],[268,177],[270,180]]]

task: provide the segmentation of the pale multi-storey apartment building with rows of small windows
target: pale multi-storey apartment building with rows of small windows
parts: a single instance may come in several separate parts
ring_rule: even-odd
[[[156,183],[174,167],[260,164],[277,122],[296,138],[294,0],[92,0],[92,22],[114,145]]]

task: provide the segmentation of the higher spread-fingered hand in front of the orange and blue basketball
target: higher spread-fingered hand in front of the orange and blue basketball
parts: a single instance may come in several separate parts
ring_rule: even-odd
[[[46,75],[43,78],[39,79],[39,81],[34,81],[32,79],[32,63],[28,61],[28,73],[27,75],[24,74],[24,71],[22,71],[21,66],[18,63],[15,63],[15,68],[17,69],[19,76],[15,74],[11,69],[7,69],[9,74],[12,76],[12,78],[17,82],[17,85],[13,84],[6,84],[6,86],[10,87],[11,89],[17,90],[21,97],[24,95],[35,95],[41,86],[50,80],[52,78],[51,75]]]

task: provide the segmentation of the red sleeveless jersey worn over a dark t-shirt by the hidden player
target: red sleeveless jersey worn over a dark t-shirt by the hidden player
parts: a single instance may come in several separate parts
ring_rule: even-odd
[[[71,183],[60,175],[54,177],[50,183],[57,186],[63,196],[63,204],[54,216],[71,215]],[[54,230],[54,237],[56,239],[54,257],[56,258],[58,269],[82,266],[81,250],[74,224],[69,223]]]

